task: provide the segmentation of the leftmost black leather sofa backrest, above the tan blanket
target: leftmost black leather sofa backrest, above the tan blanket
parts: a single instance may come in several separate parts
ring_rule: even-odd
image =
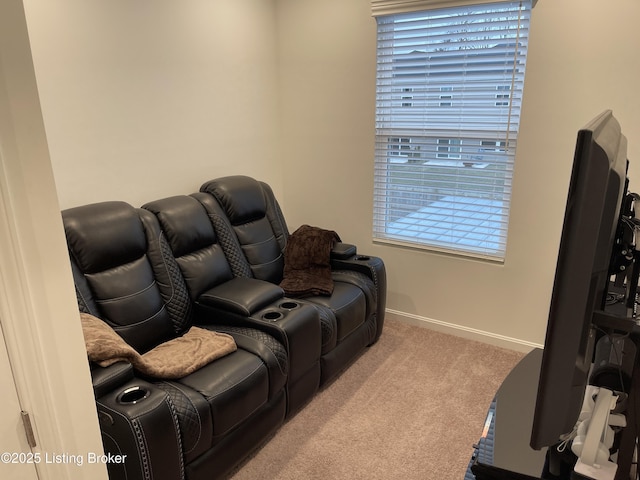
[[[62,218],[81,311],[140,353],[190,327],[186,285],[153,215],[102,202],[64,210]]]

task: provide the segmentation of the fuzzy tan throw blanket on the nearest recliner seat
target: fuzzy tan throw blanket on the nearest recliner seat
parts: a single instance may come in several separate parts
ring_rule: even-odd
[[[183,336],[140,355],[99,318],[81,313],[80,319],[89,360],[101,367],[119,361],[129,362],[150,377],[182,378],[237,348],[230,335],[191,327]]]

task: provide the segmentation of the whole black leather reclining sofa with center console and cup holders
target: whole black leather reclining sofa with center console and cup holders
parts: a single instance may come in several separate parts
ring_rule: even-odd
[[[285,294],[290,234],[271,188],[250,177],[62,217],[81,312],[140,353],[194,325],[237,345],[179,379],[91,364],[105,452],[126,455],[112,479],[225,478],[382,332],[384,264],[353,245],[331,252],[331,295]]]

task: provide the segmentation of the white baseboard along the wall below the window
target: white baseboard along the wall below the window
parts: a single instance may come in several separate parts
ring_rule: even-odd
[[[505,335],[485,332],[484,330],[464,327],[462,325],[456,325],[454,323],[442,322],[440,320],[421,317],[420,315],[400,312],[400,311],[392,310],[389,308],[386,309],[386,315],[390,318],[394,318],[398,321],[408,323],[411,325],[416,325],[418,327],[430,328],[438,332],[448,333],[450,335],[456,335],[458,337],[467,338],[469,340],[475,340],[477,342],[488,343],[489,345],[495,345],[497,347],[516,350],[518,352],[528,353],[534,348],[543,347],[538,343],[527,342],[525,340],[520,340],[518,338],[512,338],[512,337],[507,337]]]

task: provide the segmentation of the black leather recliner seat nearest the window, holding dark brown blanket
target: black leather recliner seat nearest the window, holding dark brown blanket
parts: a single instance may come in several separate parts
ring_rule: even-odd
[[[238,276],[279,284],[283,279],[287,224],[269,185],[236,175],[204,183],[194,196],[205,206]],[[331,295],[304,301],[322,320],[321,385],[332,380],[382,332],[386,273],[379,258],[358,256],[342,244],[333,259]]]

